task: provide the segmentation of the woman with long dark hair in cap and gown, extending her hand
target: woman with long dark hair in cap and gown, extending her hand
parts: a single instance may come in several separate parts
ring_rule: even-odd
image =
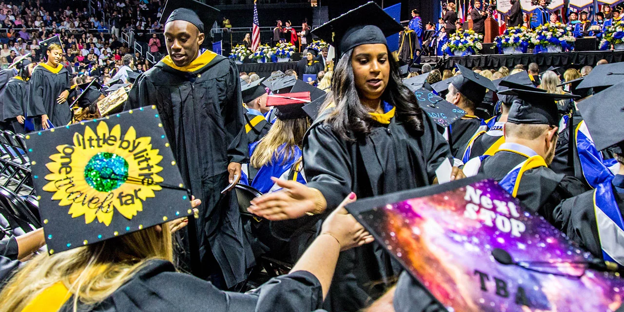
[[[337,47],[339,60],[324,110],[303,141],[308,185],[278,181],[284,190],[253,200],[251,213],[268,220],[322,218],[351,191],[366,198],[434,183],[451,151],[401,83],[385,39],[401,30],[369,2],[313,31]],[[377,243],[341,253],[325,308],[357,311],[398,273]]]

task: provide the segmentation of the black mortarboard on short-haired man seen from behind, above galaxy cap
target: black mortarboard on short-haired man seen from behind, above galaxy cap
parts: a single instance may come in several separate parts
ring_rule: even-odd
[[[507,89],[502,95],[515,95],[507,121],[513,124],[558,125],[557,100],[574,99],[572,94],[546,93],[541,90]],[[509,104],[509,103],[507,103]]]

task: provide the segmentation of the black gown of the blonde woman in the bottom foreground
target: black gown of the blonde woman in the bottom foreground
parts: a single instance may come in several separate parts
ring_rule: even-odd
[[[70,298],[60,312],[71,312]],[[273,278],[250,293],[218,290],[195,276],[178,273],[172,263],[152,260],[109,298],[95,306],[78,306],[78,311],[215,311],[281,312],[314,311],[323,303],[321,283],[307,271]]]

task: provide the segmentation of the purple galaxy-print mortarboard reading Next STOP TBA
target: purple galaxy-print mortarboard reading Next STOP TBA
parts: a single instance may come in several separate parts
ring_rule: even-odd
[[[624,280],[586,270],[578,262],[595,260],[588,252],[494,180],[465,178],[346,208],[448,311],[618,311],[622,305]],[[518,264],[500,263],[501,253],[503,262]]]

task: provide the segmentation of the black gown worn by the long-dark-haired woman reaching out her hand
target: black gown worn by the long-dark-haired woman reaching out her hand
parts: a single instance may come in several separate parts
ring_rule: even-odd
[[[424,187],[435,170],[450,158],[449,145],[431,119],[421,115],[423,131],[407,129],[401,120],[374,123],[371,134],[346,140],[324,122],[331,109],[314,122],[303,140],[303,163],[308,187],[327,202],[326,213],[338,207],[349,192],[358,198]],[[353,137],[353,134],[348,134]],[[383,294],[401,269],[378,243],[343,251],[324,306],[329,311],[357,311],[369,296]],[[377,286],[371,286],[376,284]]]

